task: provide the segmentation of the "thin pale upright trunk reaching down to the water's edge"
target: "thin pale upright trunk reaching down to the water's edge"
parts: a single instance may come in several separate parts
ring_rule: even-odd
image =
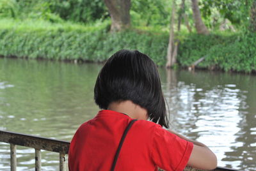
[[[167,48],[167,63],[166,63],[166,68],[171,68],[173,66],[173,62],[176,61],[173,59],[173,45],[174,45],[174,15],[175,15],[175,0],[173,0],[172,3],[172,16],[171,16],[171,21],[170,21],[170,36],[169,36],[169,43],[168,43],[168,48]]]

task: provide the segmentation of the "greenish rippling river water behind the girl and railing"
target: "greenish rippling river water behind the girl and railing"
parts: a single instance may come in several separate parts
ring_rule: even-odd
[[[102,64],[0,58],[0,130],[70,141],[98,112],[93,87]],[[170,126],[209,145],[218,166],[256,170],[256,76],[159,68]],[[17,170],[35,170],[35,151],[17,147]],[[42,170],[58,154],[42,152]],[[10,170],[10,145],[0,143],[0,170]]]

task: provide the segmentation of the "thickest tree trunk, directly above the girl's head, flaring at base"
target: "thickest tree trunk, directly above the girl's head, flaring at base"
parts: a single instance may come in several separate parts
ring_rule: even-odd
[[[104,0],[112,20],[111,31],[120,31],[131,25],[131,0]]]

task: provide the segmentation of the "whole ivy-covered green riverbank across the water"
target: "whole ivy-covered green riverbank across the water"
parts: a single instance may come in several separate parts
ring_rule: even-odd
[[[0,56],[60,61],[103,62],[122,48],[138,49],[159,66],[166,63],[168,31],[138,28],[109,33],[109,22],[93,26],[43,20],[0,20]],[[256,71],[256,34],[212,33],[208,36],[182,33],[177,61],[191,66],[200,57],[199,68]]]

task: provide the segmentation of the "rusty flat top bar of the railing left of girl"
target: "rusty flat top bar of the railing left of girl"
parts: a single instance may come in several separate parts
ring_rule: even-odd
[[[70,142],[0,130],[0,142],[68,154]]]

